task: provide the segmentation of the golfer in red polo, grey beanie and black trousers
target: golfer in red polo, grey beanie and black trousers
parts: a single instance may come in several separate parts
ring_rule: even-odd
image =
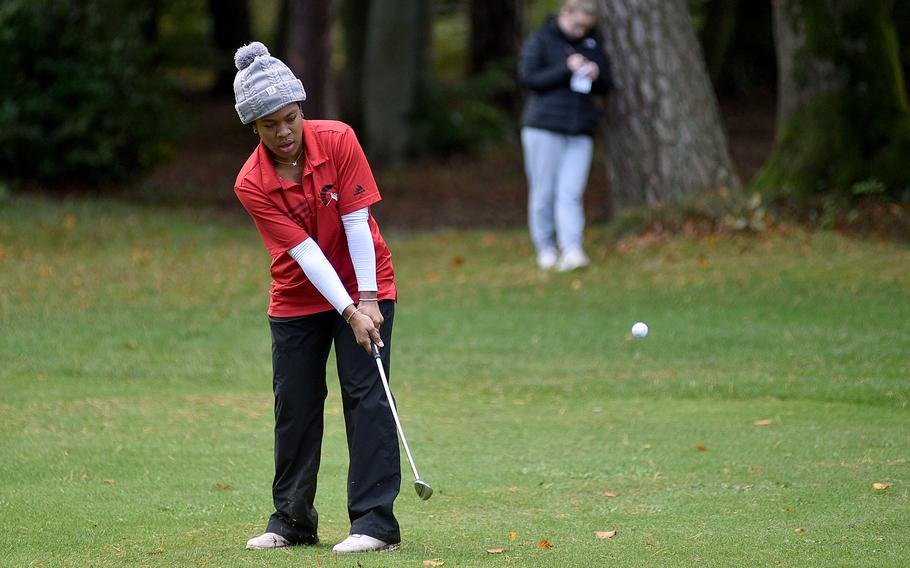
[[[241,47],[234,62],[237,114],[260,139],[234,192],[272,257],[275,512],[246,546],[319,542],[313,501],[334,345],[351,530],[333,550],[394,550],[401,541],[392,512],[401,484],[398,440],[370,347],[381,348],[388,375],[397,293],[389,249],[370,215],[379,191],[351,128],[304,120],[303,84],[263,44]]]

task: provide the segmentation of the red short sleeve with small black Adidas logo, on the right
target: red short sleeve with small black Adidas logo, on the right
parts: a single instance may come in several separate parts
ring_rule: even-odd
[[[347,128],[338,137],[334,160],[338,172],[338,212],[347,215],[382,200],[367,157],[354,130]]]

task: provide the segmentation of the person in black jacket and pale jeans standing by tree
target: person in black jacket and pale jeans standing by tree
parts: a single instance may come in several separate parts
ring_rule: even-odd
[[[583,248],[582,196],[591,167],[600,95],[610,65],[597,33],[595,0],[565,0],[527,41],[518,65],[527,90],[521,142],[528,177],[528,225],[544,270],[590,263]]]

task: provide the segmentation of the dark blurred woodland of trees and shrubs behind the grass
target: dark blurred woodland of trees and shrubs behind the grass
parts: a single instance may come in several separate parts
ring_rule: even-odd
[[[212,130],[206,105],[231,103],[234,49],[258,39],[303,79],[307,116],[353,124],[378,168],[440,156],[470,156],[478,168],[505,159],[515,167],[504,175],[521,186],[515,61],[559,3],[10,0],[0,10],[0,176],[134,184],[175,155],[180,125],[185,141],[203,125]],[[906,155],[910,1],[602,4],[619,89],[598,146],[610,173],[598,199],[673,202],[736,188],[737,173],[771,194],[910,194],[908,174],[894,167]],[[83,41],[90,26],[103,41]],[[641,42],[636,29],[655,33]],[[812,79],[818,69],[837,80]],[[214,153],[189,152],[195,164],[221,167]],[[592,183],[605,177],[595,171]]]

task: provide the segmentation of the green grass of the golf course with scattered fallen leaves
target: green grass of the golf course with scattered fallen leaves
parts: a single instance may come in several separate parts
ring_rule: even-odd
[[[348,529],[334,380],[324,544],[243,550],[271,512],[252,224],[3,202],[0,565],[905,565],[910,249],[603,233],[571,275],[538,272],[523,231],[387,235],[392,383],[436,495],[403,463],[402,549],[351,558],[330,552]]]

